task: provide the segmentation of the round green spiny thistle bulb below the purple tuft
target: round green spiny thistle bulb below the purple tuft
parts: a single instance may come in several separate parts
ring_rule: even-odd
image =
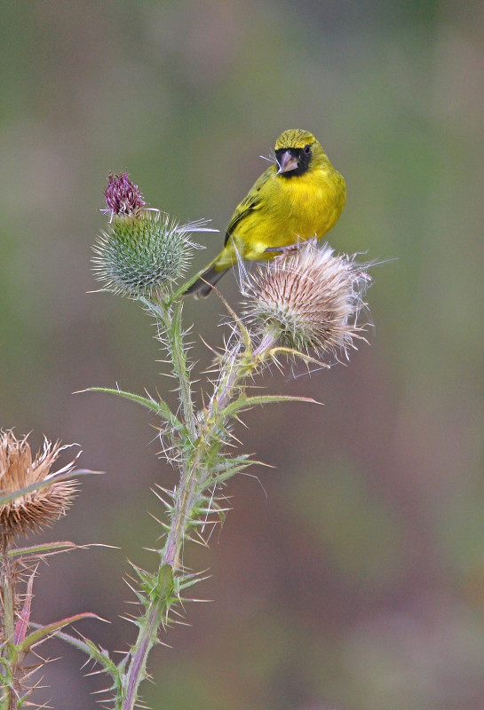
[[[94,246],[96,278],[129,298],[166,291],[186,270],[192,254],[188,236],[160,212],[114,217]]]

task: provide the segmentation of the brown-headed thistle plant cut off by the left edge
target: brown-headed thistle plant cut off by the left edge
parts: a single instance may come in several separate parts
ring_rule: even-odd
[[[44,626],[31,620],[33,585],[39,564],[47,556],[76,546],[53,542],[20,548],[20,536],[53,525],[66,515],[76,493],[76,481],[87,471],[74,470],[75,461],[52,472],[67,446],[44,439],[36,456],[28,437],[16,438],[0,431],[0,708],[16,710],[34,706],[30,701],[38,681],[36,673],[47,662],[39,646],[60,628],[79,619],[81,613]],[[33,660],[34,659],[34,660]]]

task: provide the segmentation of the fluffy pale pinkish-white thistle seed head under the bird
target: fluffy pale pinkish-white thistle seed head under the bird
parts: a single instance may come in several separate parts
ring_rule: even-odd
[[[353,258],[308,242],[250,276],[246,314],[263,334],[294,350],[346,352],[365,329],[358,317],[370,281]]]

